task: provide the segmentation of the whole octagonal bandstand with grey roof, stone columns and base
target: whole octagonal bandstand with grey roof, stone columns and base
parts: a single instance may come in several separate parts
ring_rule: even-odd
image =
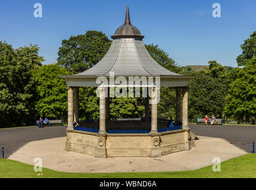
[[[154,61],[143,44],[144,36],[130,23],[128,7],[124,24],[111,37],[113,42],[110,49],[98,64],[79,74],[60,76],[68,87],[65,149],[101,158],[161,157],[176,151],[190,150],[192,133],[188,126],[188,84],[192,77],[168,71]],[[127,81],[131,77],[146,81],[142,87],[146,88],[146,94],[150,96],[145,97],[143,119],[111,120],[111,81],[120,77]],[[98,83],[101,78],[107,80]],[[134,84],[129,82],[129,85],[124,86],[131,85]],[[98,87],[98,120],[79,120],[79,87]],[[166,119],[157,118],[160,87],[176,88],[176,125],[168,126]]]

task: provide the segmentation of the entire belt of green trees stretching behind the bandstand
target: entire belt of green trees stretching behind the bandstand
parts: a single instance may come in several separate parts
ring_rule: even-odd
[[[164,68],[185,75],[196,75],[189,83],[189,121],[205,115],[242,121],[256,117],[256,31],[241,45],[238,66],[230,68],[209,61],[203,69],[181,67],[158,45],[145,45],[149,54]],[[39,47],[14,49],[0,42],[0,127],[35,123],[35,118],[67,118],[67,89],[59,75],[82,72],[107,53],[111,40],[101,31],[71,36],[63,40],[58,64],[42,65]],[[99,118],[99,99],[95,87],[79,89],[80,119]],[[144,112],[143,98],[110,99],[111,118],[139,118]],[[161,87],[159,118],[175,118],[175,88]],[[149,110],[150,111],[150,110]]]

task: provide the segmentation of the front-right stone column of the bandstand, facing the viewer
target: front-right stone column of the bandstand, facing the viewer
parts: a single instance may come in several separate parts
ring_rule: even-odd
[[[157,132],[157,87],[152,88],[151,97],[151,133]]]

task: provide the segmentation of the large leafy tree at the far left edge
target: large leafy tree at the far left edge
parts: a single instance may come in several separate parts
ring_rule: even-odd
[[[32,71],[44,59],[39,47],[13,49],[0,42],[0,126],[20,126],[34,121],[35,83]]]

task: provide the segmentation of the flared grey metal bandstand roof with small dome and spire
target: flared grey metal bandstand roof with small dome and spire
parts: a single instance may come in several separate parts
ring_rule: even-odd
[[[181,76],[159,65],[146,50],[141,32],[130,25],[129,8],[126,21],[118,27],[113,36],[110,49],[97,64],[83,71],[80,76]]]

